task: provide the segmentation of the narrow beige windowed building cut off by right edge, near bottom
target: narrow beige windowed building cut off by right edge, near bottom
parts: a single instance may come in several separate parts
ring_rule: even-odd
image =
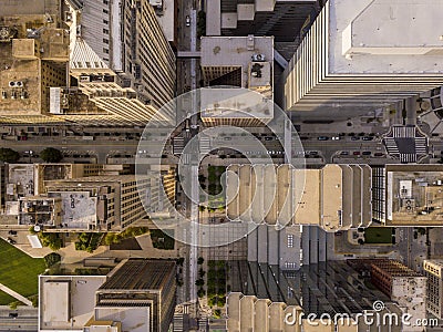
[[[443,260],[425,259],[424,276],[427,278],[426,310],[437,319],[443,318]]]

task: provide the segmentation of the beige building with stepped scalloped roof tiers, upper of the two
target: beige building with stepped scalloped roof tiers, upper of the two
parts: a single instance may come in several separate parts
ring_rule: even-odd
[[[317,225],[327,231],[365,227],[372,221],[371,168],[326,165],[230,165],[227,217],[268,225]],[[274,199],[271,199],[274,197]]]

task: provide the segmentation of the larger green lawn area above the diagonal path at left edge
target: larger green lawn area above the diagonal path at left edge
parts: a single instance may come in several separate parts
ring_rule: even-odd
[[[44,272],[42,258],[31,258],[0,239],[0,283],[23,297],[38,293],[38,276]]]

